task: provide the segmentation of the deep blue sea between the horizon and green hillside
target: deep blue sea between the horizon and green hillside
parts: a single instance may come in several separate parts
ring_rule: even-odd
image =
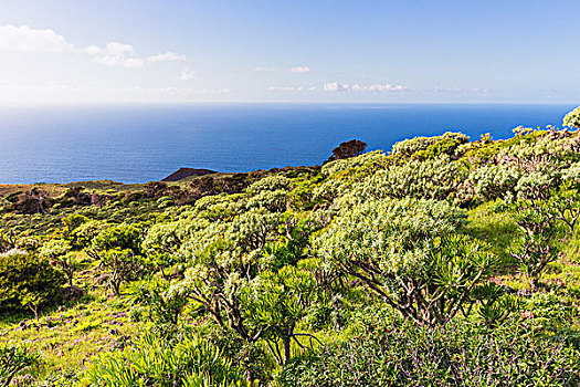
[[[160,180],[180,167],[317,165],[352,138],[368,150],[460,130],[478,139],[560,125],[574,105],[219,104],[0,107],[0,184]]]

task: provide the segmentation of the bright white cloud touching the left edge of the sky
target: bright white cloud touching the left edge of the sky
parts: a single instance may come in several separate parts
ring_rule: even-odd
[[[0,52],[67,52],[74,46],[53,30],[0,25]]]

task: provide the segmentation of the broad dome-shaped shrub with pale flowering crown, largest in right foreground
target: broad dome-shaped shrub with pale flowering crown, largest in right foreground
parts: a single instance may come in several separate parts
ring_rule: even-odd
[[[460,220],[444,202],[369,201],[344,211],[315,247],[404,317],[443,325],[495,263],[485,247],[456,233]]]

